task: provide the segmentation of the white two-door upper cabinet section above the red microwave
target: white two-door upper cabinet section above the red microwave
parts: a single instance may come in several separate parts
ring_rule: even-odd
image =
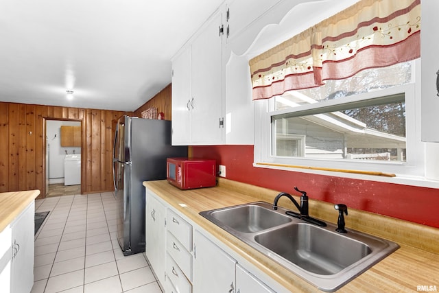
[[[172,144],[224,143],[222,11],[172,62]]]

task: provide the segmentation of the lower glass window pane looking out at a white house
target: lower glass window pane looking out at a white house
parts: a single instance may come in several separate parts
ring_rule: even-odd
[[[403,97],[403,95],[401,95]],[[273,156],[406,161],[405,102],[272,116]],[[303,139],[298,139],[303,137]],[[303,143],[303,151],[300,151]]]

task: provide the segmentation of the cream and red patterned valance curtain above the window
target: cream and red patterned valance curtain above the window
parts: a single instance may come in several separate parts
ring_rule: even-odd
[[[253,99],[420,57],[420,0],[361,0],[250,60]]]

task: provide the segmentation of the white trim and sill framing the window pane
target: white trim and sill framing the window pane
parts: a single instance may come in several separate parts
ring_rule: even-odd
[[[420,60],[413,62],[414,76],[420,76]],[[269,112],[269,109],[274,109],[274,99],[264,99],[254,101],[255,103],[255,141],[254,141],[254,167],[263,167],[269,169],[283,169],[295,172],[303,172],[310,174],[322,174],[327,176],[338,176],[344,178],[355,178],[363,180],[373,180],[379,182],[396,183],[403,185],[414,185],[422,187],[439,188],[439,180],[427,179],[425,176],[426,159],[425,149],[426,143],[423,143],[420,138],[420,78],[412,84],[403,86],[396,86],[390,89],[383,89],[380,91],[372,91],[350,97],[352,101],[360,101],[361,99],[369,99],[373,97],[392,95],[396,93],[405,93],[406,104],[406,132],[407,132],[407,162],[384,162],[384,161],[349,161],[349,160],[328,160],[328,159],[311,159],[311,158],[281,158],[272,156],[271,148],[271,116],[283,113],[291,113],[294,110],[276,110]],[[340,104],[341,99],[324,101],[319,104],[324,106],[333,106]],[[306,105],[300,108],[303,110],[313,105]],[[417,119],[416,119],[417,118]],[[261,165],[272,164],[272,165]],[[300,166],[300,167],[285,167],[279,165]],[[307,168],[322,168],[322,169],[344,169],[344,170],[361,170],[369,172],[384,172],[396,174],[395,177],[373,176],[365,174],[355,174],[346,172],[333,172],[321,169],[307,169]]]

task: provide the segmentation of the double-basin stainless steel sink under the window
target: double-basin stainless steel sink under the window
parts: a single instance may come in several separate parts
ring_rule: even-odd
[[[387,257],[399,245],[336,225],[292,218],[268,202],[202,211],[202,215],[267,257],[326,292],[334,292]]]

